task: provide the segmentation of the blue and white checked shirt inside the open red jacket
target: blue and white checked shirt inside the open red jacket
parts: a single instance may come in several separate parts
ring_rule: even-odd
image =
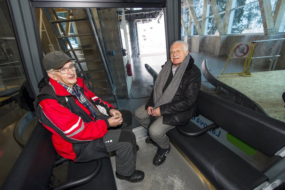
[[[75,83],[74,88],[72,88],[62,84],[61,82],[58,83],[61,84],[67,90],[67,92],[75,96],[78,99],[78,101],[82,103],[92,113],[93,117],[96,118],[96,113],[94,112],[94,110],[92,109],[91,105],[86,100],[86,98],[82,95],[82,92],[80,91],[80,86],[78,84]]]

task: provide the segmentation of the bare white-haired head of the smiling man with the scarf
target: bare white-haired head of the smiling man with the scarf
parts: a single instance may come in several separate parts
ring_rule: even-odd
[[[170,60],[175,66],[179,66],[185,59],[189,51],[184,50],[185,47],[182,43],[174,43],[170,48]]]

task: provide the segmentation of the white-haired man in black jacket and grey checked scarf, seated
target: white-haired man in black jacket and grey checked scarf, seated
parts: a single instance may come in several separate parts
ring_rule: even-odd
[[[175,41],[170,47],[170,60],[162,67],[154,89],[145,105],[134,111],[136,120],[148,129],[146,143],[158,147],[153,159],[161,165],[170,151],[166,133],[178,125],[186,125],[196,112],[201,86],[201,71],[189,55],[188,45]]]

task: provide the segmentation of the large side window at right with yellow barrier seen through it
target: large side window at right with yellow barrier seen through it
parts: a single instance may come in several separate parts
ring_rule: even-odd
[[[216,0],[203,1],[202,3],[193,1],[193,4],[188,2],[191,1],[181,0],[181,17],[184,21],[181,22],[181,39],[187,40],[189,43],[190,54],[195,59],[195,63],[201,67],[203,60],[208,59],[208,67],[212,74],[218,78],[217,80],[226,78],[225,73],[232,78],[235,75],[248,77],[250,75],[253,79],[261,75],[268,76],[266,80],[258,80],[253,84],[266,86],[269,85],[269,82],[269,86],[276,86],[272,90],[278,92],[279,95],[276,95],[274,101],[267,99],[270,102],[270,108],[267,106],[268,103],[258,102],[261,99],[265,101],[264,97],[267,96],[261,95],[263,93],[256,93],[252,97],[252,101],[258,106],[264,106],[264,112],[270,117],[285,121],[284,114],[282,115],[283,106],[280,108],[275,104],[278,101],[283,105],[281,98],[283,92],[281,91],[284,89],[281,90],[280,87],[277,87],[279,83],[284,83],[283,74],[272,75],[285,70],[285,13],[283,5],[277,3],[281,1]],[[260,5],[259,3],[267,4]],[[266,8],[263,9],[265,6]],[[219,13],[219,15],[215,13]],[[269,14],[272,14],[273,17]],[[205,15],[204,20],[201,15]],[[189,20],[187,20],[188,18]],[[190,29],[191,32],[185,32]],[[227,71],[224,72],[224,69]],[[276,76],[276,78],[272,76]],[[237,77],[230,87],[236,87],[240,91],[242,91],[241,87],[247,87],[242,91],[245,94],[255,92],[255,86],[251,86],[250,82],[243,83],[241,81],[242,79]],[[251,78],[247,81],[251,81]],[[205,88],[208,90],[213,88],[212,84],[209,85],[207,82],[207,80],[204,82]],[[223,95],[219,94],[223,92],[221,87],[214,86],[213,89],[213,93],[218,96],[247,108],[258,110],[250,107],[248,102],[242,102],[241,98],[235,94],[228,92]],[[251,94],[246,95],[250,96]],[[280,109],[283,110],[280,111]]]

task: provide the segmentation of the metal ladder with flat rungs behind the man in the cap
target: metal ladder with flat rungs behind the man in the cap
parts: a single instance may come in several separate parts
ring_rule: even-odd
[[[76,73],[81,75],[81,77],[84,79],[84,82],[86,83],[87,87],[89,87],[89,89],[91,91],[94,91],[96,89],[96,87],[94,87],[95,86],[94,83],[106,82],[108,88],[110,88],[111,93],[108,93],[108,90],[104,94],[97,94],[96,92],[94,92],[94,93],[96,94],[96,96],[99,96],[99,97],[100,96],[109,96],[109,98],[110,98],[110,96],[111,96],[112,100],[108,99],[107,101],[109,101],[110,103],[116,103],[117,108],[119,108],[118,99],[117,99],[117,96],[115,93],[115,91],[116,91],[115,83],[114,83],[114,80],[112,78],[112,74],[110,73],[110,67],[109,67],[108,61],[105,57],[103,44],[101,43],[102,42],[101,38],[98,35],[98,27],[97,27],[96,22],[95,22],[95,18],[93,15],[92,8],[84,8],[85,17],[70,18],[70,19],[59,19],[55,9],[51,8],[52,13],[53,13],[56,20],[53,19],[48,8],[43,8],[42,10],[43,10],[43,13],[45,13],[45,15],[47,16],[48,20],[50,21],[52,29],[54,30],[54,33],[56,34],[57,39],[59,41],[60,48],[70,57],[71,57],[71,52],[72,52],[73,57],[76,59],[75,63],[78,64],[78,66],[80,68],[80,71],[77,69]],[[90,27],[91,32],[87,33],[87,34],[68,35],[66,33],[67,28],[64,29],[64,27],[62,26],[61,23],[75,22],[75,21],[87,22],[88,26]],[[57,27],[57,24],[58,24],[59,28]],[[59,31],[59,29],[62,31],[63,35]],[[85,44],[85,45],[80,44],[81,48],[73,49],[69,38],[82,37],[82,36],[92,36],[94,39],[96,47],[83,47],[83,46],[86,46],[87,44]],[[68,49],[66,44],[68,44],[69,49]],[[75,51],[82,51],[83,52],[84,50],[97,50],[100,59],[79,60]],[[81,63],[84,63],[84,62],[86,62],[86,63],[87,62],[94,62],[94,64],[95,64],[95,62],[101,62],[103,65],[103,68],[85,71],[81,65]],[[101,79],[91,79],[90,78],[91,73],[92,74],[98,73],[102,76],[105,73],[106,77],[103,79],[102,78]],[[106,87],[104,87],[104,88],[106,88]],[[114,102],[112,102],[112,101],[114,101]]]

